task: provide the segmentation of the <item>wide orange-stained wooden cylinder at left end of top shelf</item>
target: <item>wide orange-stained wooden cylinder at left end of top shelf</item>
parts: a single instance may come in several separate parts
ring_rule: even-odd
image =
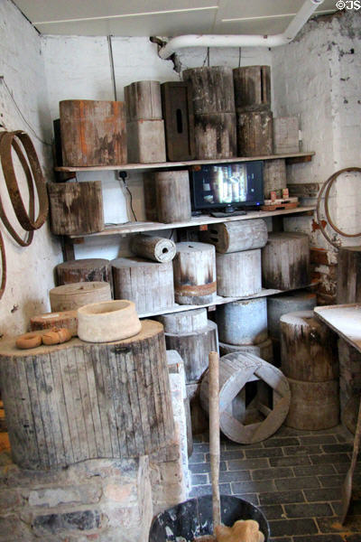
[[[119,101],[60,101],[64,166],[126,164],[125,104]]]

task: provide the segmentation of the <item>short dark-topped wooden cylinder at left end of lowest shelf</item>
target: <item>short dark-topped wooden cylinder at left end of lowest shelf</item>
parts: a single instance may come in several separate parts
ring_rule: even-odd
[[[69,260],[55,267],[57,284],[69,285],[75,282],[111,282],[110,262],[103,258]]]

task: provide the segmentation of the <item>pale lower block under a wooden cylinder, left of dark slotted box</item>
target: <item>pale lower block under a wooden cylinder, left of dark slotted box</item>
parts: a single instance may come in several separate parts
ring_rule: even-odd
[[[126,123],[130,164],[165,162],[163,120],[134,120]]]

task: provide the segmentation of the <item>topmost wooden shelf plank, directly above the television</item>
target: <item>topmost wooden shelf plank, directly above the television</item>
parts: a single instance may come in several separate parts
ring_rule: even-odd
[[[55,167],[56,172],[102,172],[102,171],[144,171],[149,169],[164,169],[174,167],[188,167],[201,164],[234,164],[235,162],[255,162],[255,160],[276,160],[285,158],[288,164],[300,164],[310,162],[315,153],[293,153],[293,154],[268,154],[265,156],[241,156],[235,158],[223,158],[221,160],[189,160],[184,162],[161,162],[158,164],[119,164],[119,165],[88,165],[87,167],[59,166]]]

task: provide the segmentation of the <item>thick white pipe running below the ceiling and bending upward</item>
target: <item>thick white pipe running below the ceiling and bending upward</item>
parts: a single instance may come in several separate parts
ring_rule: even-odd
[[[184,47],[278,47],[292,42],[302,26],[310,19],[323,0],[305,0],[300,11],[295,14],[286,30],[270,36],[255,34],[218,35],[218,34],[189,34],[171,38],[159,51],[161,59],[169,59],[178,49]]]

